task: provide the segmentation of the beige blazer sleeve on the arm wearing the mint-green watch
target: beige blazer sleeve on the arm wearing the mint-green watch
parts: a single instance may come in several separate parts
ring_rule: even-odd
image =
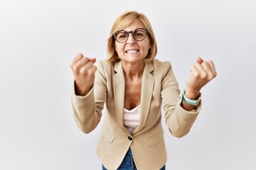
[[[166,125],[172,135],[175,137],[183,137],[189,132],[195,122],[201,110],[201,103],[196,110],[184,110],[178,102],[180,90],[170,62],[166,62],[164,68],[164,76],[161,81],[161,98],[164,106]]]

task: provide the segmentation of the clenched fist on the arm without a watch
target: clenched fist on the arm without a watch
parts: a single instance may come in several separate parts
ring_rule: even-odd
[[[95,61],[95,58],[88,58],[78,54],[70,64],[75,77],[75,94],[78,96],[88,94],[94,84],[97,70],[97,67],[93,65]]]

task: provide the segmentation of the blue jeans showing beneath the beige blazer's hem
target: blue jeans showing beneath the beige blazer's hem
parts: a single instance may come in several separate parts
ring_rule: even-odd
[[[107,169],[102,165],[102,170],[107,170]],[[131,148],[129,148],[127,154],[124,157],[124,160],[122,161],[122,164],[119,166],[117,170],[137,170],[134,164],[134,159],[132,157]],[[165,170],[165,165],[160,170]]]

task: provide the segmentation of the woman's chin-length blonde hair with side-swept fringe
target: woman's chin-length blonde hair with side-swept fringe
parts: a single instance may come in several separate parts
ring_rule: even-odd
[[[149,36],[149,42],[150,42],[150,49],[148,52],[148,55],[144,59],[144,62],[151,62],[154,57],[156,57],[157,53],[157,46],[156,46],[156,39],[154,37],[154,32],[151,27],[151,24],[149,23],[149,20],[146,18],[146,16],[143,13],[138,13],[136,11],[127,11],[126,13],[123,13],[121,16],[119,16],[116,21],[114,21],[114,24],[110,30],[110,38],[107,40],[107,54],[109,55],[109,58],[107,61],[109,62],[119,62],[120,58],[117,55],[117,51],[114,48],[114,36],[112,36],[112,33],[117,32],[117,30],[123,30],[127,26],[129,26],[130,23],[132,23],[135,20],[141,21],[145,28],[149,30],[148,36]]]

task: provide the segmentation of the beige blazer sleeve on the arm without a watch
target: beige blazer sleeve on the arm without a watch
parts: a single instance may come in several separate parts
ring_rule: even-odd
[[[86,96],[77,96],[75,86],[71,95],[73,116],[78,128],[85,133],[92,132],[100,123],[107,96],[107,79],[101,62],[97,64],[95,83]]]

